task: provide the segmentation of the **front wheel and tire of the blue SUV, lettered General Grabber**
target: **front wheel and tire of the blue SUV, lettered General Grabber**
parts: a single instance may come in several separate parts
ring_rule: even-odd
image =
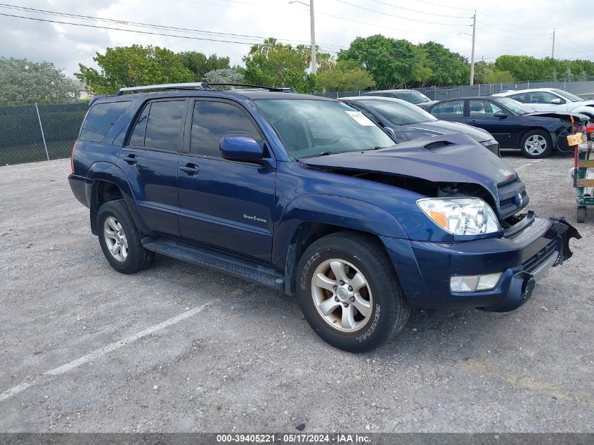
[[[297,266],[297,299],[323,340],[366,352],[406,325],[410,306],[380,241],[356,232],[316,240]]]

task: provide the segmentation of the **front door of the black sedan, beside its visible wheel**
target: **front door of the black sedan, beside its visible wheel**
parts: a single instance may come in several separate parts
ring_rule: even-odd
[[[505,112],[506,117],[497,117],[496,112]],[[515,127],[515,116],[487,99],[468,101],[467,124],[489,131],[501,146],[509,147]]]

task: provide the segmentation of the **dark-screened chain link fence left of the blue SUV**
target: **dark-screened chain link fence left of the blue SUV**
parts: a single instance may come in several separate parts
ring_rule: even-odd
[[[88,105],[0,107],[0,165],[70,156]]]

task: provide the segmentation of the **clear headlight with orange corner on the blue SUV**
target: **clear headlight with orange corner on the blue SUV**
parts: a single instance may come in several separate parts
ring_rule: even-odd
[[[435,224],[453,235],[501,231],[495,212],[480,198],[424,198],[417,205]]]

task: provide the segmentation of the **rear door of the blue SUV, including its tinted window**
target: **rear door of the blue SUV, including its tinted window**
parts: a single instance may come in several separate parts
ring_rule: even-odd
[[[117,161],[146,225],[162,235],[179,236],[177,172],[187,108],[183,98],[148,102]]]

